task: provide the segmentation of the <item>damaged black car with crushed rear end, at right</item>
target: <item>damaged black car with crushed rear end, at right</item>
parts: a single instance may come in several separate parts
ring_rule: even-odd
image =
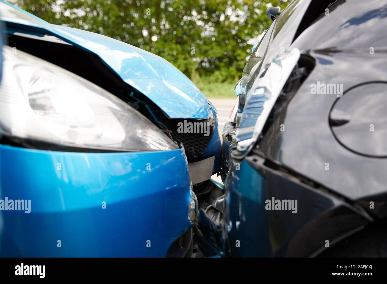
[[[199,211],[200,247],[386,257],[387,2],[293,0],[270,17],[235,89],[225,195]]]

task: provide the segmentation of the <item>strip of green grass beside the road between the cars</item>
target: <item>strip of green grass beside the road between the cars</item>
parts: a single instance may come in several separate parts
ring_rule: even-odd
[[[234,82],[210,82],[207,80],[194,80],[195,85],[207,98],[234,99]]]

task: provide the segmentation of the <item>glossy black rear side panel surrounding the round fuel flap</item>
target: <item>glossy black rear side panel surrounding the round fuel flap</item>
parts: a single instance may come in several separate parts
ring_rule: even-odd
[[[260,141],[266,157],[351,200],[387,192],[387,158],[342,145],[329,122],[337,95],[311,91],[313,84],[342,84],[345,96],[357,85],[387,81],[386,27],[385,1],[339,0],[300,34],[289,48],[312,56],[315,67]]]

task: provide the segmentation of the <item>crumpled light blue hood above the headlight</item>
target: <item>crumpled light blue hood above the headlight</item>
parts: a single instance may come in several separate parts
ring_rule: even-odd
[[[209,119],[216,109],[182,72],[163,58],[116,39],[42,21],[2,18],[9,32],[56,36],[99,56],[122,80],[170,118]],[[128,94],[129,95],[129,94]]]

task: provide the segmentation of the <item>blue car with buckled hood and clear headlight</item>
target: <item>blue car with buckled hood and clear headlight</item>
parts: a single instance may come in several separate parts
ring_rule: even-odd
[[[0,256],[190,256],[223,194],[211,102],[142,49],[3,1],[0,17]]]

